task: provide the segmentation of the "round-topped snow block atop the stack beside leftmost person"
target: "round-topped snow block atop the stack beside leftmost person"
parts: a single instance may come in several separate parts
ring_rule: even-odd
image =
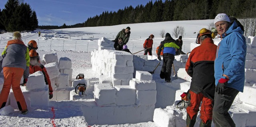
[[[44,74],[42,71],[34,72],[28,76],[26,90],[38,90],[45,88]]]

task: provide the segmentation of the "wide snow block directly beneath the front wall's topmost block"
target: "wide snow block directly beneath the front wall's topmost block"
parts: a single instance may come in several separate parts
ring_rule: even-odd
[[[135,90],[156,90],[156,82],[153,80],[130,80],[129,85]]]

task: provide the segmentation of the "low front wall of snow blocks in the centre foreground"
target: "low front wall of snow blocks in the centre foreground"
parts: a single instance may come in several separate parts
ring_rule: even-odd
[[[140,123],[153,120],[156,82],[149,72],[137,71],[129,85],[94,84],[95,102],[82,107],[89,125]]]

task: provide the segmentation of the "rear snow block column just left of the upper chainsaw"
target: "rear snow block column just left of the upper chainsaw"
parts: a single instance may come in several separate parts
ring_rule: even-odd
[[[68,57],[60,57],[59,67],[61,74],[68,74],[68,82],[71,86],[72,82],[72,61]]]

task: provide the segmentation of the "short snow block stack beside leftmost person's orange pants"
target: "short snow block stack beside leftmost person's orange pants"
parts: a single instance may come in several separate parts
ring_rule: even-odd
[[[48,106],[49,105],[49,90],[48,85],[44,82],[44,74],[37,71],[30,74],[28,82],[25,86],[21,86],[22,94],[24,95],[27,107],[31,106]],[[10,105],[14,109],[18,109],[14,93],[10,90]]]

